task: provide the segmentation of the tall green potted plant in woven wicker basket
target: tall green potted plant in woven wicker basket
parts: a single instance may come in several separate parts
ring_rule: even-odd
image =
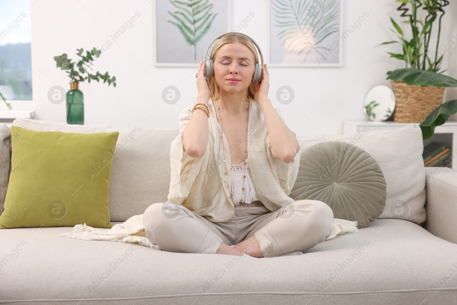
[[[392,30],[399,41],[381,43],[399,43],[403,54],[388,52],[390,57],[403,60],[405,68],[388,71],[388,77],[393,87],[396,107],[393,120],[395,122],[420,123],[443,102],[446,87],[457,87],[457,80],[442,75],[441,60],[438,46],[441,33],[441,18],[445,14],[443,7],[449,4],[447,0],[396,0],[401,2],[397,11],[406,17],[402,23],[409,25],[411,40],[406,40],[404,32],[392,17]],[[408,6],[410,8],[408,8]],[[425,19],[419,15],[424,15]],[[434,22],[438,21],[435,52],[430,57],[430,37]],[[433,61],[432,61],[433,60]]]

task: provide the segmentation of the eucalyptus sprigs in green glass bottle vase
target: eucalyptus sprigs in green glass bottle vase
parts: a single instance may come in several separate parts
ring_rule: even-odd
[[[75,63],[71,62],[71,59],[67,58],[67,54],[62,54],[60,56],[55,56],[54,60],[57,62],[56,67],[60,67],[61,70],[68,70],[68,76],[71,79],[70,90],[67,91],[67,123],[68,124],[84,124],[84,99],[83,93],[79,90],[79,82],[87,80],[90,83],[90,80],[99,81],[99,77],[103,80],[103,83],[108,81],[108,86],[113,84],[116,87],[116,76],[113,76],[110,79],[108,72],[105,74],[100,74],[98,71],[96,75],[92,75],[87,70],[88,68],[92,70],[92,61],[94,61],[93,56],[97,58],[100,57],[100,50],[93,48],[90,52],[86,51],[86,55],[81,55],[83,49],[76,49],[78,53],[76,55],[81,57],[81,60],[76,64],[78,71],[74,70]],[[87,76],[83,77],[82,74],[87,72]]]

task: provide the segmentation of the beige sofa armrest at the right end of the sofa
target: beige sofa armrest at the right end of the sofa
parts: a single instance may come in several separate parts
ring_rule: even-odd
[[[425,167],[425,230],[457,244],[457,170]]]

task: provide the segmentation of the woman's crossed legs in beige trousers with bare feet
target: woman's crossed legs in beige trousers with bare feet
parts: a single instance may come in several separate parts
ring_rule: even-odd
[[[152,204],[143,214],[143,223],[148,239],[172,252],[276,257],[306,251],[324,241],[331,234],[333,223],[333,211],[326,203],[297,200],[266,216],[260,214],[261,221],[250,227],[247,238],[232,248],[216,234],[215,225],[207,224],[202,216],[182,206],[176,207],[172,217],[166,211],[163,203]]]

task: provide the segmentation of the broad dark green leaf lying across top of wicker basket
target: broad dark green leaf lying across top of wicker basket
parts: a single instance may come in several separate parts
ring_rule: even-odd
[[[457,87],[457,80],[433,71],[413,68],[402,68],[392,71],[386,79],[393,81],[403,80],[410,86],[420,85],[436,87]]]

